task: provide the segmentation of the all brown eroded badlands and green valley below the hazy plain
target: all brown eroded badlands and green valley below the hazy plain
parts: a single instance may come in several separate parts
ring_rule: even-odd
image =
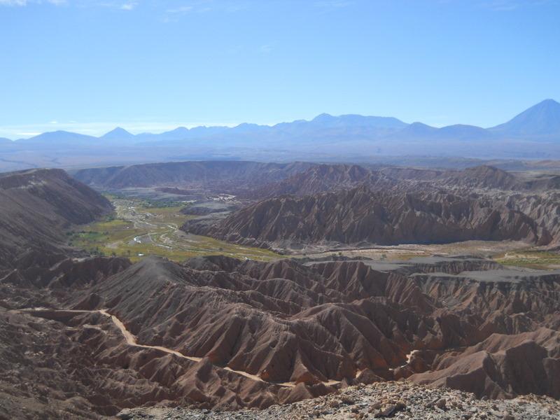
[[[0,175],[0,418],[560,418],[560,176]]]

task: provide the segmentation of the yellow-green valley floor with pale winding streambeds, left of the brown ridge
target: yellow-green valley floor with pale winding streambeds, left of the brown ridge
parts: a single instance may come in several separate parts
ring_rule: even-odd
[[[94,255],[113,255],[141,260],[159,255],[182,261],[200,255],[228,255],[239,259],[273,260],[282,255],[262,248],[230,244],[179,230],[189,218],[176,203],[158,203],[108,196],[116,214],[103,221],[68,232],[69,244]]]

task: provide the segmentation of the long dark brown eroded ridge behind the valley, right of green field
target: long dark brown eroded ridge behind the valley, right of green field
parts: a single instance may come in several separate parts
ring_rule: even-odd
[[[241,209],[214,225],[183,229],[228,241],[290,248],[303,244],[446,243],[468,239],[548,244],[531,217],[500,202],[450,193],[376,193],[365,187],[283,196]]]

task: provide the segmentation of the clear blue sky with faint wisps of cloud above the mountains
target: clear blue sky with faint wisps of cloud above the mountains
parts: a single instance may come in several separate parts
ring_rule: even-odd
[[[556,0],[0,0],[0,137],[560,100]]]

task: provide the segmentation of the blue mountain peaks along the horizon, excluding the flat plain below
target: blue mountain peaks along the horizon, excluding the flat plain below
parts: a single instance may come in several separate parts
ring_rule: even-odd
[[[228,137],[339,137],[339,141],[356,139],[391,139],[391,140],[480,140],[514,138],[526,140],[560,140],[560,104],[553,99],[531,106],[515,116],[507,123],[484,129],[474,125],[448,125],[446,127],[430,127],[423,123],[403,123],[398,118],[374,117],[360,115],[331,116],[322,113],[313,120],[295,120],[291,123],[276,125],[257,125],[243,123],[236,127],[178,127],[160,134],[132,134],[122,127],[104,134],[101,137],[86,136],[72,132],[46,132],[36,137],[25,139],[37,144],[41,141],[66,144],[69,141],[119,141],[123,143],[144,143],[149,141],[181,141],[188,139],[223,139]],[[23,139],[22,139],[23,140]],[[20,141],[22,141],[20,140]],[[0,139],[1,141],[1,139]]]

